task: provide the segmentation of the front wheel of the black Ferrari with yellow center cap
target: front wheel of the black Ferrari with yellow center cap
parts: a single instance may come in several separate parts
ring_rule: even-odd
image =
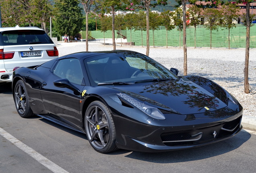
[[[117,150],[116,129],[107,106],[101,101],[92,102],[85,113],[85,130],[93,149],[99,153]]]

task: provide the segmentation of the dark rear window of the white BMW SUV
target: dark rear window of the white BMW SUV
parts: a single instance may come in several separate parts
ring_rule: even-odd
[[[53,44],[43,30],[10,30],[0,34],[0,45]]]

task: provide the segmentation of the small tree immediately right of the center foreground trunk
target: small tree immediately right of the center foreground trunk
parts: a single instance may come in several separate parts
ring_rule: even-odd
[[[194,26],[194,45],[196,48],[196,26],[201,24],[201,11],[202,8],[199,8],[198,6],[194,5],[188,9],[188,14],[190,18],[190,25]]]

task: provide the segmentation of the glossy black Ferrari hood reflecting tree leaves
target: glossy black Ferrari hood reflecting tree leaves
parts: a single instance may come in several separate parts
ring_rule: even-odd
[[[130,95],[142,103],[182,115],[205,113],[226,107],[227,103],[223,99],[226,97],[224,89],[214,82],[211,83],[211,80],[205,79],[203,83],[205,84],[205,82],[208,82],[208,86],[210,84],[216,88],[209,90],[203,85],[196,84],[197,82],[188,80],[188,78],[118,85],[111,86],[111,88]]]

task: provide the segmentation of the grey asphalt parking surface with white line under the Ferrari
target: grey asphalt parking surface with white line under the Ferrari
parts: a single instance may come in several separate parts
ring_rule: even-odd
[[[0,173],[255,173],[255,144],[256,135],[243,130],[194,149],[100,154],[86,135],[40,117],[19,117],[10,84],[0,85]]]

